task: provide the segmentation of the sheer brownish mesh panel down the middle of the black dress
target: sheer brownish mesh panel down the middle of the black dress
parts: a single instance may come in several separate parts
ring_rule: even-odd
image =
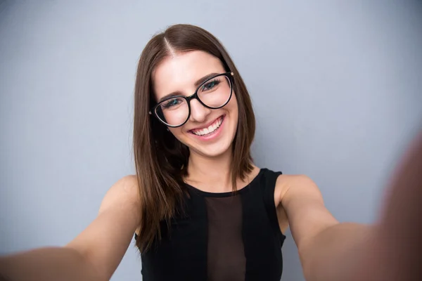
[[[245,251],[239,195],[207,197],[208,281],[244,281]]]

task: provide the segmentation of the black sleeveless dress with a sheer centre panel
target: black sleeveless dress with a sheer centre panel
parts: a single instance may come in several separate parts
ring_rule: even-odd
[[[162,240],[141,254],[144,281],[279,281],[281,233],[274,187],[281,172],[261,169],[237,192],[188,186],[184,216],[162,223]]]

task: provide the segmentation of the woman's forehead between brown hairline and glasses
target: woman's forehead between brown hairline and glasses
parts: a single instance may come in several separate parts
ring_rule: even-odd
[[[213,72],[222,73],[224,67],[219,58],[203,51],[165,58],[153,72],[155,98],[160,99],[174,91],[191,95],[196,90],[195,82]]]

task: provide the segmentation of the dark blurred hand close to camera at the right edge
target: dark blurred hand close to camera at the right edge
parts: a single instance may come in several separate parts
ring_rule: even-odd
[[[385,199],[359,280],[422,280],[422,132],[404,156]]]

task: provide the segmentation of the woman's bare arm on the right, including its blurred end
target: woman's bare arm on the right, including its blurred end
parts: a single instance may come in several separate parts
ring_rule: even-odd
[[[306,176],[280,176],[286,209],[308,281],[419,280],[422,278],[422,136],[392,182],[381,221],[338,223]],[[413,279],[412,279],[413,278]],[[416,279],[415,279],[416,278]],[[421,279],[422,280],[422,279]]]

